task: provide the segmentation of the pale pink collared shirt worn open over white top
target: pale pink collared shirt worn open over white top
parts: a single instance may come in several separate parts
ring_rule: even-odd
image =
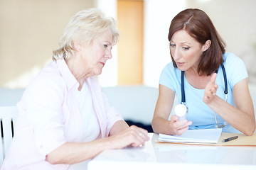
[[[96,77],[87,78],[100,124],[100,138],[107,137],[122,116],[110,107]],[[83,124],[78,104],[78,81],[65,60],[50,62],[31,81],[18,102],[14,139],[1,170],[68,169],[50,164],[46,155],[65,142],[82,142]]]

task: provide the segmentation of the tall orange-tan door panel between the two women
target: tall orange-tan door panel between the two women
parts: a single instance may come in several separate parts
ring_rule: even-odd
[[[143,84],[144,1],[117,1],[117,85]]]

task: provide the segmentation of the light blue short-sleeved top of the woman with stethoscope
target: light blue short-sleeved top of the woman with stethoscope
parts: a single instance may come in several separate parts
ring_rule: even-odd
[[[233,86],[248,77],[245,63],[233,53],[225,53],[223,55],[225,72],[228,79],[228,103],[235,106],[235,101],[233,99]],[[224,78],[223,69],[219,67],[218,75],[215,81],[218,84],[218,90],[216,95],[225,100],[224,94]],[[168,87],[173,90],[177,97],[179,103],[181,103],[181,70],[174,68],[173,63],[164,67],[161,72],[159,79],[159,84]],[[186,77],[184,77],[184,89],[186,94],[186,106],[188,107],[187,120],[192,121],[192,125],[189,129],[206,129],[215,128],[215,112],[211,110],[206,103],[203,103],[204,89],[196,89],[191,84],[188,83]],[[218,114],[217,120],[218,124],[222,125],[225,120],[221,118]],[[233,128],[231,125],[225,126],[223,132],[239,133],[240,131]]]

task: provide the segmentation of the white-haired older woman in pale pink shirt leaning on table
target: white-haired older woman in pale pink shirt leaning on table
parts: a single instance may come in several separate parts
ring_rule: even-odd
[[[53,62],[17,104],[16,133],[2,170],[71,169],[105,149],[149,140],[146,130],[129,127],[110,107],[95,77],[112,58],[118,37],[114,20],[97,9],[71,18]]]

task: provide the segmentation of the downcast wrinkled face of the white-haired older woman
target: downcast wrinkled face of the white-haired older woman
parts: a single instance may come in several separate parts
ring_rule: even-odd
[[[112,58],[111,50],[112,32],[110,30],[106,30],[95,40],[92,40],[89,46],[85,47],[84,45],[80,61],[80,64],[84,66],[83,74],[100,75],[107,60]]]

